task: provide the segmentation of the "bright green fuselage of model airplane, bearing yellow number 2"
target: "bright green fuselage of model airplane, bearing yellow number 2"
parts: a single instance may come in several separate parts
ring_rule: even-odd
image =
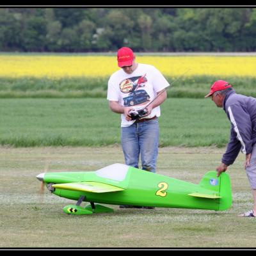
[[[222,182],[223,186],[230,186],[229,178],[225,176],[227,173],[223,174],[220,179],[220,177],[216,177],[216,172],[208,172],[204,176],[205,180],[203,183],[192,184],[191,182],[130,167],[124,177],[118,179],[109,178],[108,175],[102,175],[102,173],[97,172],[63,172],[46,173],[44,182],[52,184],[101,182],[124,189],[107,193],[72,191],[59,188],[52,191],[55,195],[71,200],[78,200],[81,196],[84,196],[84,201],[100,204],[143,205],[218,211],[227,209],[231,204],[230,198],[221,195],[223,192],[221,192],[220,183]],[[204,183],[205,185],[202,186]],[[199,196],[193,196],[193,193],[197,193]],[[206,198],[200,195],[217,196],[216,198]]]

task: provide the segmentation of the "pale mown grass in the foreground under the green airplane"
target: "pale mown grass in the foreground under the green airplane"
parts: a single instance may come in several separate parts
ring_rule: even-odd
[[[198,184],[220,163],[223,148],[164,147],[157,173]],[[39,193],[36,175],[94,171],[124,163],[119,146],[0,148],[1,248],[253,248],[255,220],[237,214],[252,208],[252,196],[239,155],[228,173],[233,204],[226,211],[159,208],[70,216],[74,201]],[[83,203],[85,205],[86,203]]]

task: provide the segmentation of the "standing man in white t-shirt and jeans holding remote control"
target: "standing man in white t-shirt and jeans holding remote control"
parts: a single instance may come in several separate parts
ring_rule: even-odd
[[[125,164],[139,168],[141,156],[142,169],[156,172],[160,105],[167,97],[166,88],[170,84],[156,67],[136,63],[136,56],[129,47],[118,50],[117,63],[120,70],[109,78],[108,100],[111,111],[122,114],[121,144]]]

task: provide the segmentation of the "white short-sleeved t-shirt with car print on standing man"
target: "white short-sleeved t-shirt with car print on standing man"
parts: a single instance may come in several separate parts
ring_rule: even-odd
[[[138,63],[132,74],[125,73],[121,68],[109,78],[107,99],[118,101],[121,106],[134,107],[135,110],[143,109],[155,99],[157,92],[168,86],[170,84],[156,67]],[[157,106],[145,118],[160,115],[160,106]],[[124,114],[121,115],[121,120],[121,127],[130,126],[135,122],[127,121]]]

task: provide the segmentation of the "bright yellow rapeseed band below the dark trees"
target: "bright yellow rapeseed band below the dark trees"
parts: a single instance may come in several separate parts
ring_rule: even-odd
[[[256,76],[256,56],[137,56],[164,76]],[[115,56],[1,54],[0,77],[102,77],[118,70]]]

